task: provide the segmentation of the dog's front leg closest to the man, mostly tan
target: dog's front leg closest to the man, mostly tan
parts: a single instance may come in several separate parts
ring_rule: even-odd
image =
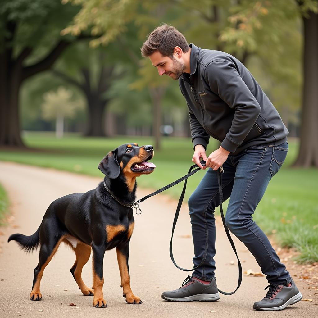
[[[128,304],[142,304],[139,297],[135,296],[130,288],[130,276],[128,267],[129,242],[122,243],[116,247],[118,266],[121,276],[121,287],[123,296]]]

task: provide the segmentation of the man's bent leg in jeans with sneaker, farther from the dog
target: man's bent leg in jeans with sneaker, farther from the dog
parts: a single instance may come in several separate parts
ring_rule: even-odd
[[[287,143],[277,147],[252,146],[232,157],[236,174],[225,222],[254,255],[270,283],[266,296],[254,303],[257,310],[282,310],[302,298],[267,236],[252,220],[270,179],[286,158],[287,149]]]

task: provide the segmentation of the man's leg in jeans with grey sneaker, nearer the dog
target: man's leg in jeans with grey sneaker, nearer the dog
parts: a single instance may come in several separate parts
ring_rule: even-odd
[[[222,176],[222,189],[226,200],[231,194],[235,168],[231,165],[230,159],[223,164],[223,168],[226,173]],[[214,209],[220,203],[216,171],[208,168],[197,189],[189,198],[188,204],[195,253],[194,267],[205,260],[202,266],[194,270],[192,277],[188,276],[182,287],[163,292],[162,298],[168,301],[217,301],[220,296],[214,277]]]

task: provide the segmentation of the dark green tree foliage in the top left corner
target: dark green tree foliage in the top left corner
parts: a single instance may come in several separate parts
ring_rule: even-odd
[[[14,55],[20,54],[24,47],[37,48],[35,55],[42,55],[54,45],[52,39],[60,37],[59,32],[78,10],[78,6],[63,6],[59,0],[3,0],[0,6],[0,40],[13,35],[7,29],[10,23],[11,28],[14,26],[14,37],[7,45],[14,48]],[[30,57],[29,63],[35,58]]]

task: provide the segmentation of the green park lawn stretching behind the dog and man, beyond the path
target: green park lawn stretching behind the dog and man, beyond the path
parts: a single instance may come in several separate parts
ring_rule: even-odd
[[[69,134],[63,139],[56,139],[53,133],[28,132],[24,133],[23,138],[31,150],[1,150],[0,160],[100,176],[101,180],[103,174],[97,166],[108,151],[129,142],[153,144],[153,138],[141,136],[107,139]],[[211,138],[207,153],[210,154],[217,147],[217,143]],[[137,180],[139,187],[147,189],[149,193],[185,175],[193,164],[190,138],[163,137],[162,149],[154,150],[155,156],[151,162],[157,166],[155,172]],[[299,262],[315,262],[318,261],[318,169],[291,168],[297,150],[297,141],[289,140],[286,162],[269,183],[253,219],[266,234],[275,233],[275,239],[282,246],[298,249],[301,252],[297,259]],[[190,177],[186,200],[204,173],[202,170]],[[182,186],[183,183],[180,183],[165,193],[179,198]],[[224,209],[226,206],[227,202]],[[219,214],[219,209],[216,214]]]

